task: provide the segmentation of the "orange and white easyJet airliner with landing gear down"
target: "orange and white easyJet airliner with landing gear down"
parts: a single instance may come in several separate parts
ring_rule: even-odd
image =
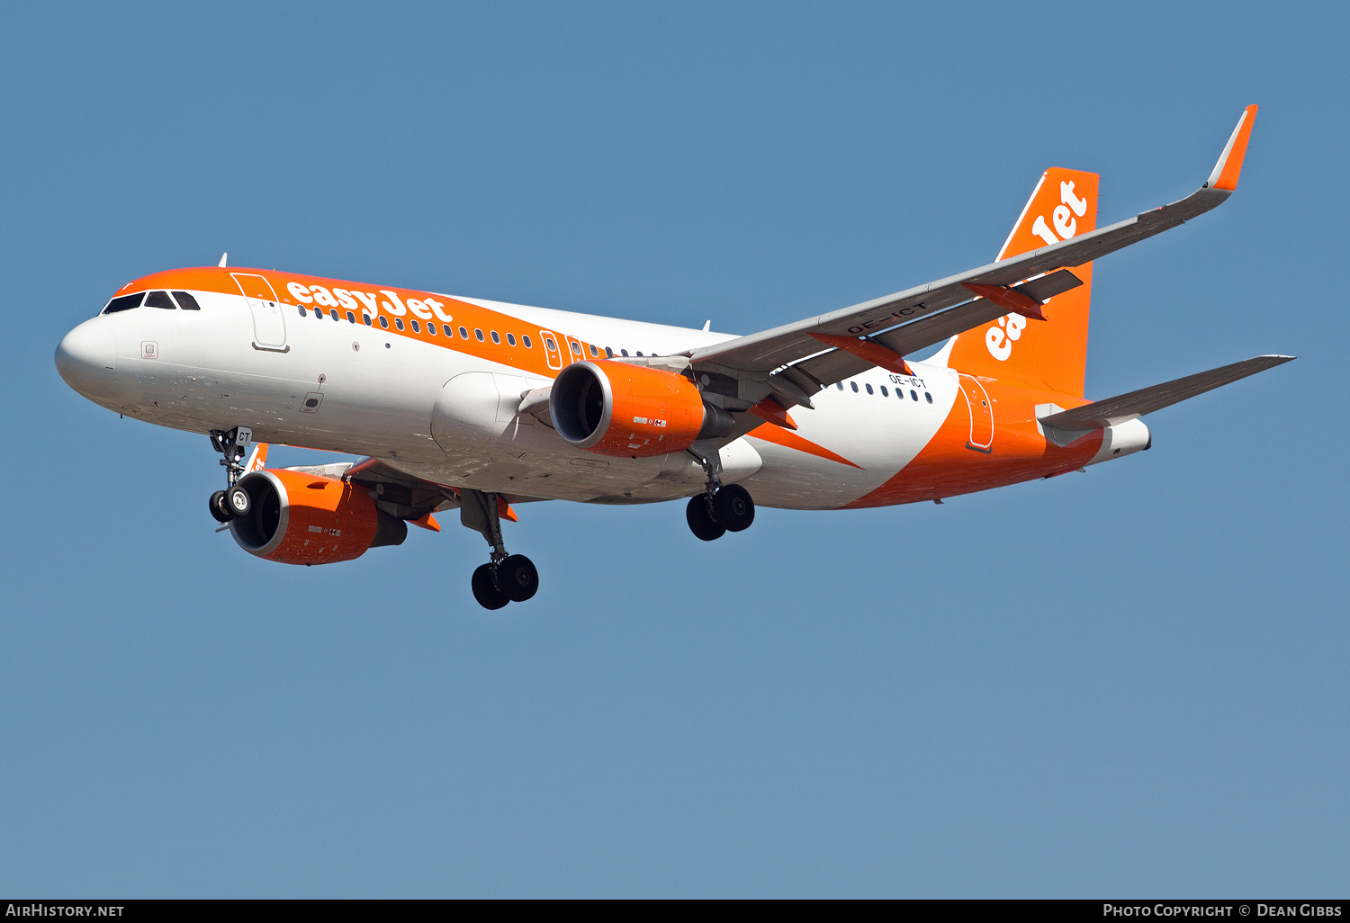
[[[1052,167],[992,263],[748,336],[227,254],[126,283],[55,364],[94,403],[209,435],[225,468],[209,511],[244,551],[346,561],[458,509],[490,547],[471,588],[495,610],[539,588],[501,525],[526,502],[687,498],[703,541],[749,528],[756,505],[941,503],[1148,449],[1142,416],[1289,362],[1084,397],[1094,260],[1227,200],[1256,112],[1170,205],[1098,228],[1098,174]],[[267,468],[269,444],[360,457]]]

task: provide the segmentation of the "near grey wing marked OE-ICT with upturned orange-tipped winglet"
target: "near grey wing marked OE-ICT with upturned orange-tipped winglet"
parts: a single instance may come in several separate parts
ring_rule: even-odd
[[[690,362],[697,372],[768,386],[767,390],[740,387],[737,397],[744,399],[757,401],[756,391],[760,395],[771,391],[784,406],[810,406],[810,394],[821,387],[879,364],[856,355],[861,351],[856,345],[840,348],[838,341],[826,343],[824,337],[880,345],[900,360],[906,352],[940,343],[1010,312],[1035,317],[1046,298],[1080,283],[1071,267],[1174,228],[1231,196],[1242,171],[1256,111],[1254,105],[1243,111],[1210,178],[1180,201],[945,279],[702,347],[687,354]],[[826,345],[834,348],[825,352]],[[875,349],[872,354],[875,356]]]

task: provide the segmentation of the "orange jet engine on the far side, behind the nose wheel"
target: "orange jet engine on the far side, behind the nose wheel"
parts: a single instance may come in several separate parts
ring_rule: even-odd
[[[336,478],[285,468],[239,479],[248,491],[248,515],[231,520],[239,547],[284,564],[332,564],[360,557],[367,548],[398,545],[408,524],[375,507],[360,487]]]

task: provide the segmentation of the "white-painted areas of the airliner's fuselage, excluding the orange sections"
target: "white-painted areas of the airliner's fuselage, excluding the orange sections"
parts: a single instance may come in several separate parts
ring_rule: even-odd
[[[548,383],[539,372],[312,309],[301,316],[293,305],[281,306],[279,332],[269,321],[270,348],[259,348],[261,321],[244,297],[194,297],[201,310],[136,308],[86,321],[62,345],[76,368],[62,374],[97,403],[147,422],[200,433],[250,426],[258,441],[369,455],[444,486],[608,503],[703,490],[703,470],[688,453],[601,457],[517,413],[522,394]],[[456,300],[514,318],[517,336],[541,340],[552,331],[616,355],[672,355],[729,339]],[[792,408],[795,436],[852,464],[751,435],[722,448],[722,479],[764,506],[834,509],[868,494],[929,443],[959,399],[941,358],[914,363],[914,372],[898,387],[900,376],[873,368],[814,395],[814,410]]]

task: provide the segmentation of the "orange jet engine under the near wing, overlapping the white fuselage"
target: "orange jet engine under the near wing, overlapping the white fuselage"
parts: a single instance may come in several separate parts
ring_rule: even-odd
[[[572,445],[629,459],[680,452],[736,426],[730,413],[706,403],[683,375],[608,359],[559,372],[548,412],[554,429]]]

